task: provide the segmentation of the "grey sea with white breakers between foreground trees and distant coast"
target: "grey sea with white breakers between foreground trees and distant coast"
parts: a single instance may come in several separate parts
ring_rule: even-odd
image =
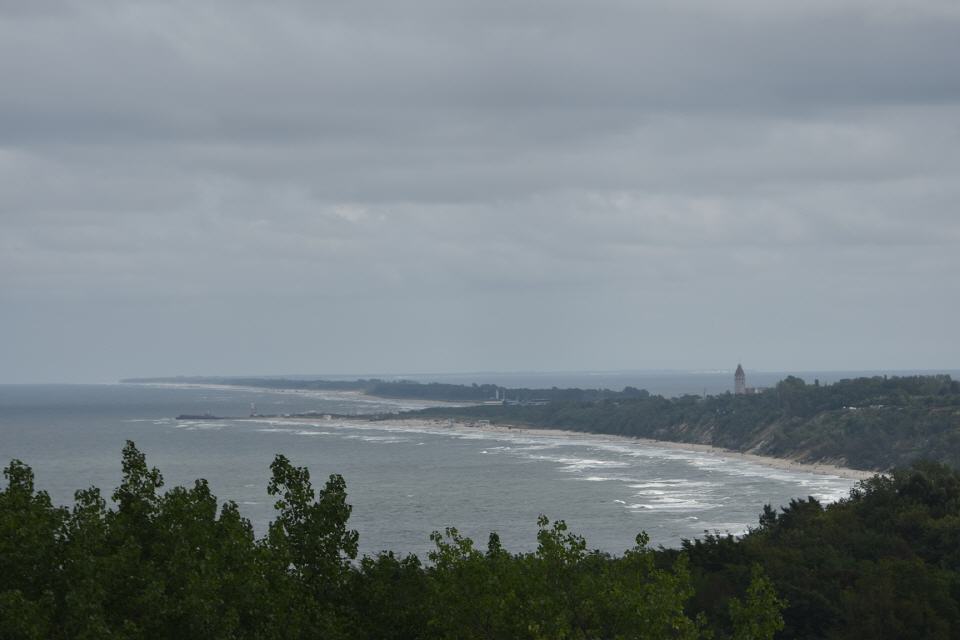
[[[181,413],[365,414],[424,403],[336,393],[128,385],[0,386],[0,460],[30,464],[61,504],[90,485],[108,494],[120,450],[134,440],[167,486],[206,478],[259,533],[272,518],[269,465],[283,453],[314,484],[347,480],[361,550],[425,556],[433,530],[456,526],[479,544],[500,533],[513,551],[536,546],[536,518],[564,519],[591,548],[622,552],[640,530],[676,546],[703,531],[738,533],[766,503],[836,500],[853,481],[589,435],[489,433],[361,420],[176,421]]]

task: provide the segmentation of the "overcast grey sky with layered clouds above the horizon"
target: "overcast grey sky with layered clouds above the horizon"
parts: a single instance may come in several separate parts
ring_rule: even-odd
[[[960,368],[955,0],[0,0],[0,382]]]

